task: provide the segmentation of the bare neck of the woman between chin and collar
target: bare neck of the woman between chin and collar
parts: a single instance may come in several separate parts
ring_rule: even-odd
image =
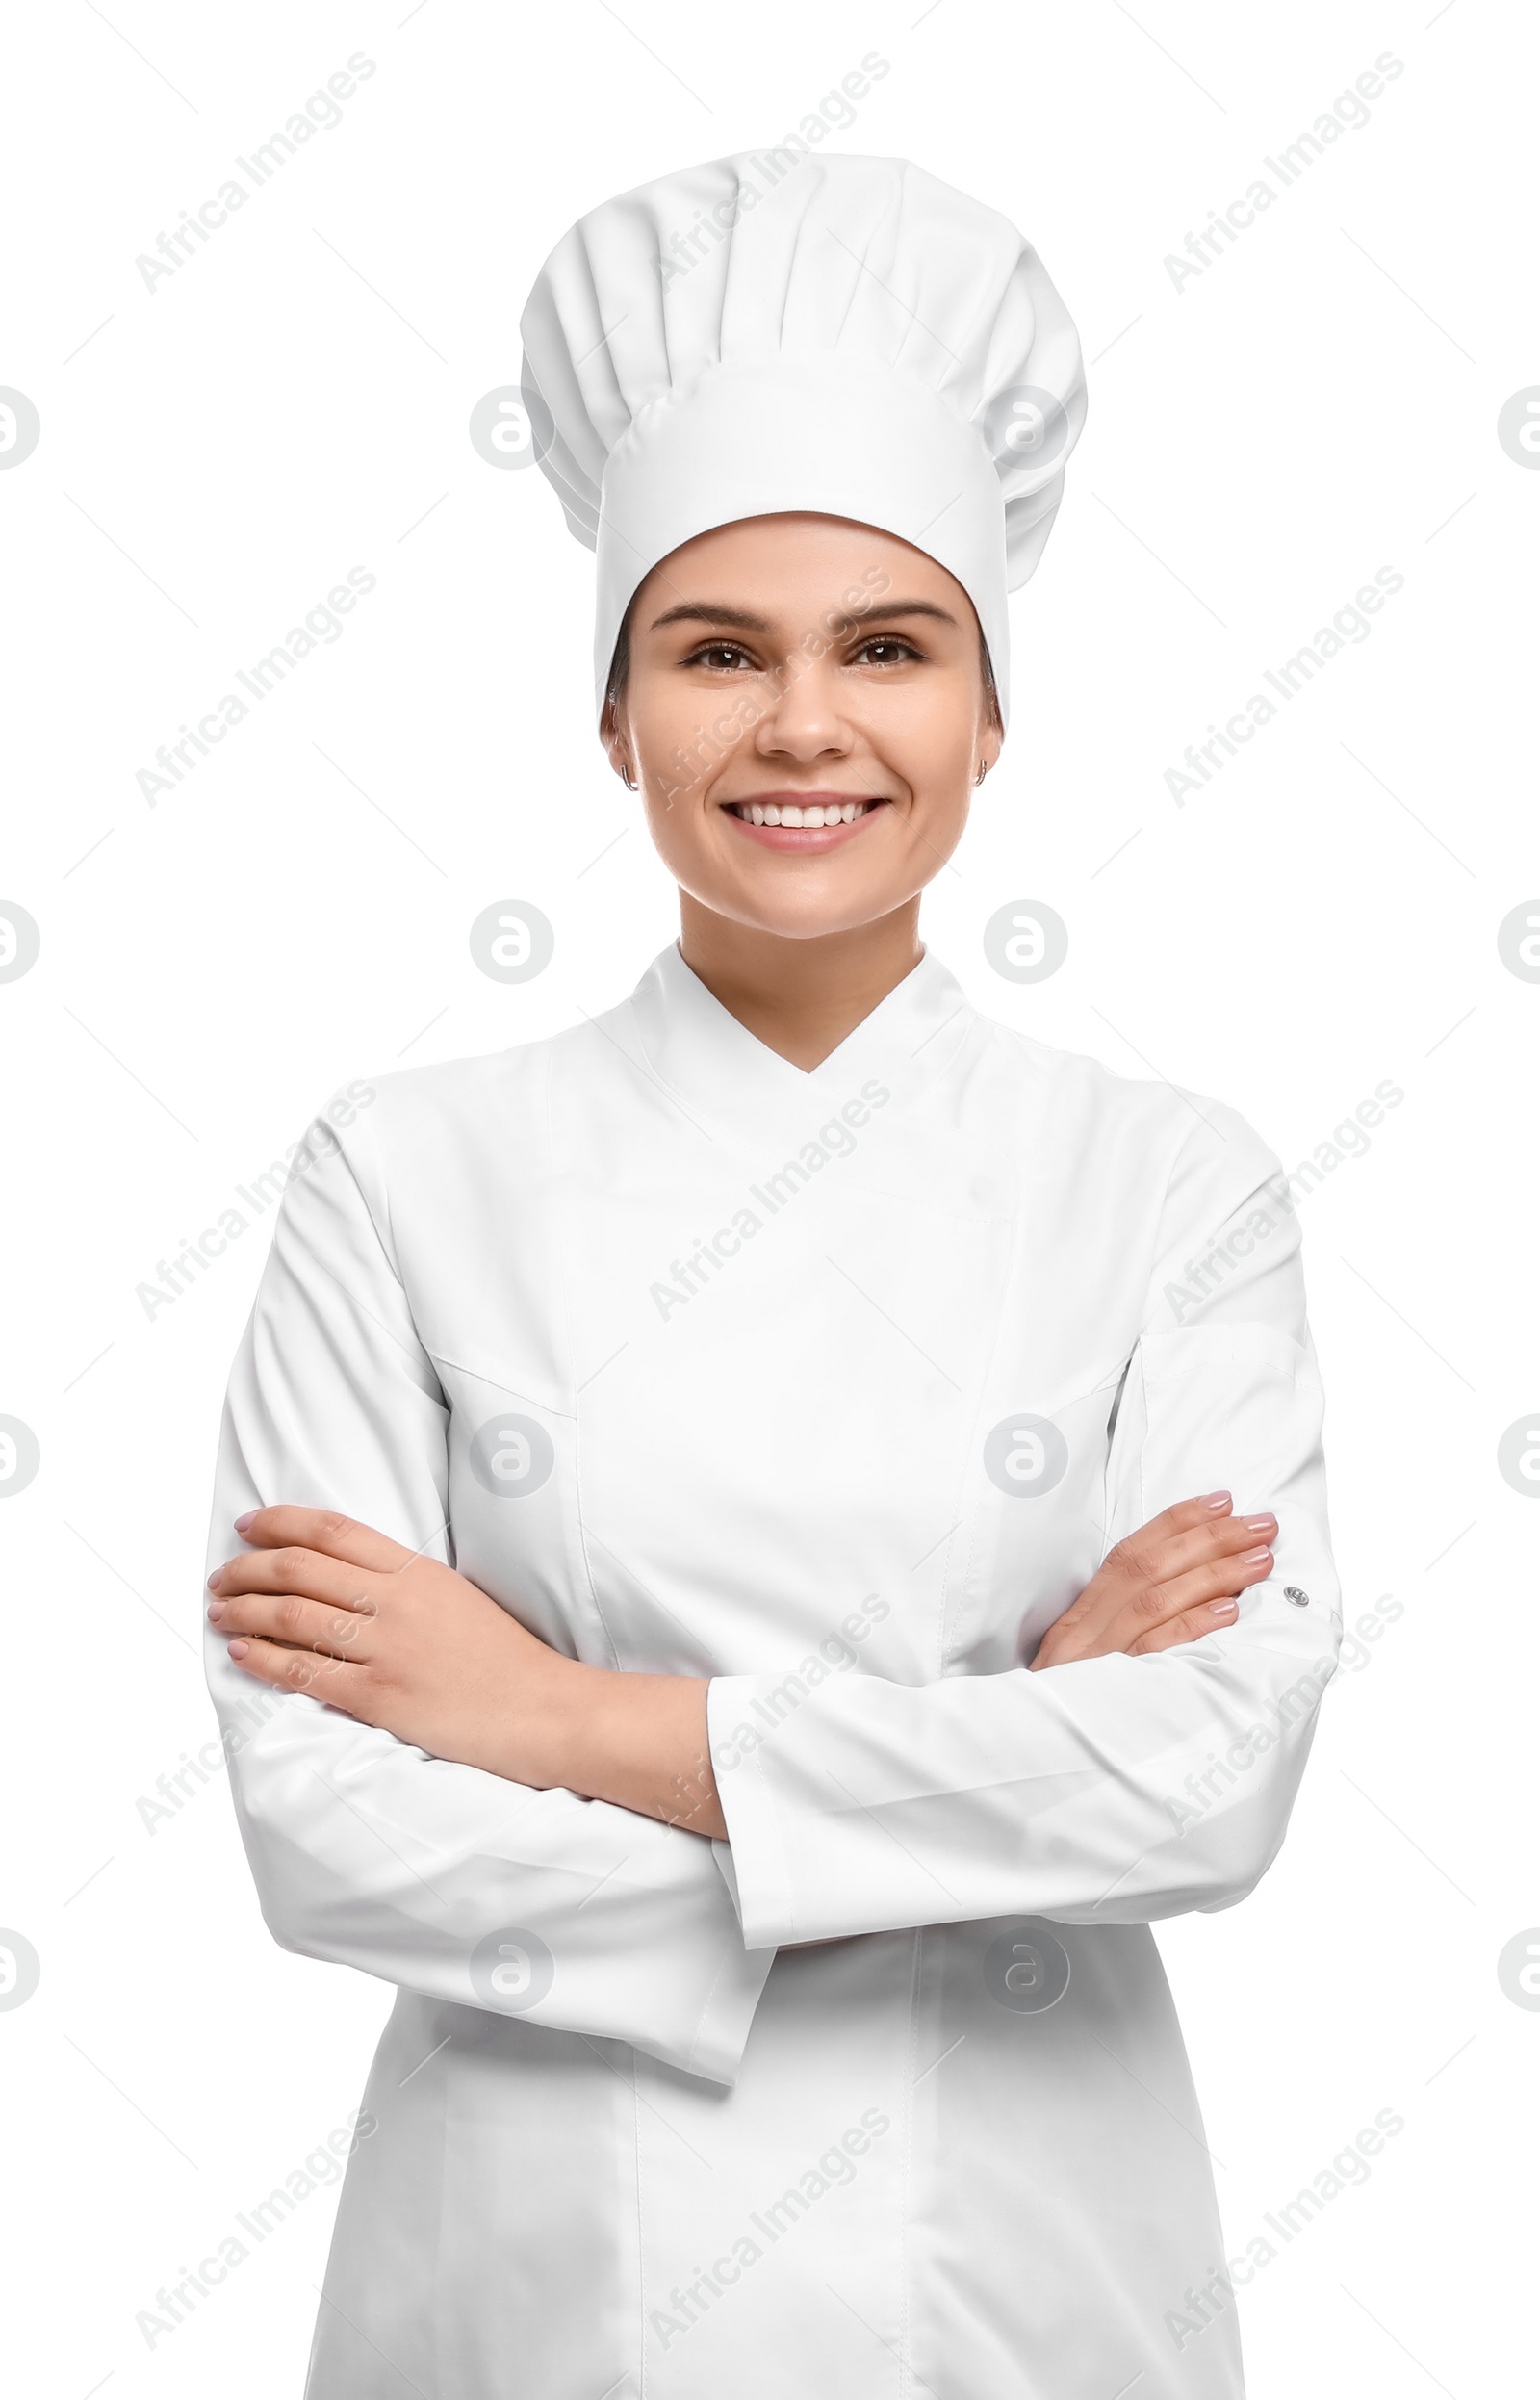
[[[847,934],[792,938],[679,893],[679,955],[756,1042],[811,1073],[919,965],[919,898]]]

